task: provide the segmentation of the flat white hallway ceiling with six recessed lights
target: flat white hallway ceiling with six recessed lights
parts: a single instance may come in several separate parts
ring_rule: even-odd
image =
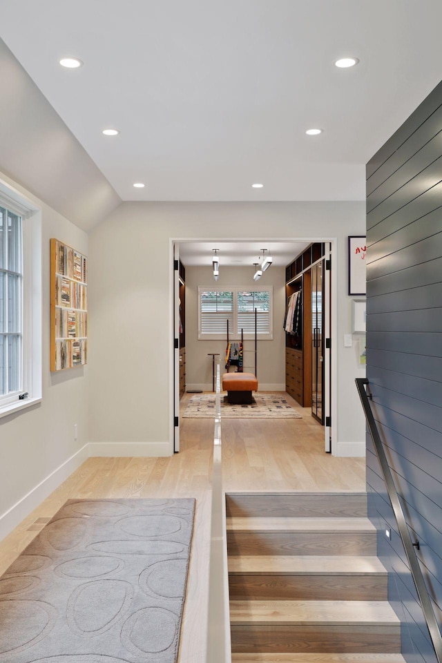
[[[0,37],[122,200],[363,200],[365,163],[442,73],[441,0],[0,10]],[[84,66],[61,68],[64,55]],[[343,55],[360,64],[339,70]]]

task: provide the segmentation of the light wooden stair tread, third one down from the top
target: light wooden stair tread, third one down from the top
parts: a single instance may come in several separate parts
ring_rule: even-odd
[[[231,601],[230,621],[274,626],[399,626],[385,601]]]

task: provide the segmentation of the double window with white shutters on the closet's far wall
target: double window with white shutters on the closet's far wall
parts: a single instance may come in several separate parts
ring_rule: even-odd
[[[198,338],[227,338],[227,320],[229,320],[229,338],[240,338],[241,329],[244,338],[253,338],[256,331],[261,339],[273,338],[272,327],[273,289],[254,287],[233,287],[225,290],[220,287],[198,288]]]

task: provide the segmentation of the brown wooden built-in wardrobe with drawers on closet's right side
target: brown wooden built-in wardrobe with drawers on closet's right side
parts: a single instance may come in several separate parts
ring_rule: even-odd
[[[324,253],[325,245],[315,242],[285,269],[287,302],[291,294],[301,291],[299,333],[285,334],[285,388],[302,407],[311,407],[311,265]]]

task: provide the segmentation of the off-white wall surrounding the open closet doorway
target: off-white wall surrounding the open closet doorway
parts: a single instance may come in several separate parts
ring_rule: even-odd
[[[172,453],[171,238],[337,238],[336,454],[365,454],[347,296],[347,237],[364,202],[123,203],[90,235],[90,440],[103,450]],[[214,351],[215,352],[215,351]],[[113,443],[109,445],[108,443]],[[135,443],[135,445],[134,445]]]

